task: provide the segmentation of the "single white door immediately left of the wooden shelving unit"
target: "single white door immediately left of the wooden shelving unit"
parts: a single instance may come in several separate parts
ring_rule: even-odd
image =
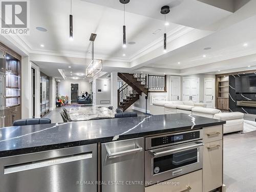
[[[204,79],[204,103],[207,108],[215,108],[215,79]]]

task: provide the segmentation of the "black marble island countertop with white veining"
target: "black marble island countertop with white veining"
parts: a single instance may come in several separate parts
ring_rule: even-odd
[[[187,114],[99,119],[0,128],[0,157],[180,132],[225,121]]]

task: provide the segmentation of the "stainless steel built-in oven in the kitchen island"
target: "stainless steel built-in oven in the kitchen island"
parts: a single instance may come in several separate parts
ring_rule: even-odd
[[[203,168],[202,130],[147,137],[145,186]]]

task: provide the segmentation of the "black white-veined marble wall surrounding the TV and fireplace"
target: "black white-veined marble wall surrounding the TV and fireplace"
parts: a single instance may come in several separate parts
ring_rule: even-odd
[[[239,100],[256,101],[256,94],[236,93],[236,77],[251,75],[256,75],[256,73],[229,75],[229,111],[256,114],[255,107],[237,105]]]

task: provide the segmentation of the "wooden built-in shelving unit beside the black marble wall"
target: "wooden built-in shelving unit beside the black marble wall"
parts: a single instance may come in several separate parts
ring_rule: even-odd
[[[225,75],[216,77],[216,108],[220,110],[228,110],[229,77]]]

